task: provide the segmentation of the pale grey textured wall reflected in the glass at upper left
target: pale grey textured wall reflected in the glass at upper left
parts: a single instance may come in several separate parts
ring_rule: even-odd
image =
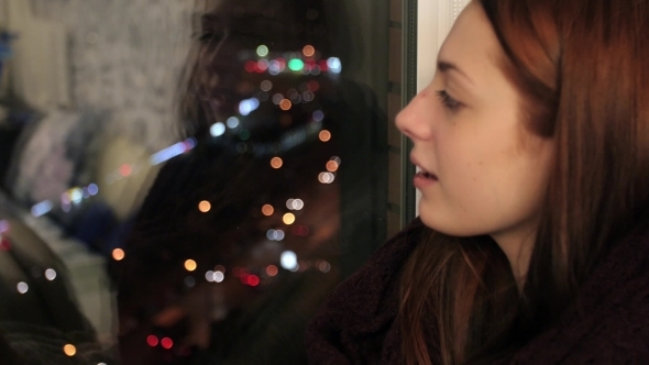
[[[69,32],[77,108],[117,111],[112,126],[151,150],[175,140],[175,97],[191,42],[193,0],[32,0]]]

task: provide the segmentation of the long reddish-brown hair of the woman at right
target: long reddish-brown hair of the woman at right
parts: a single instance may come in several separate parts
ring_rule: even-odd
[[[480,3],[521,120],[557,142],[553,173],[521,292],[488,236],[431,232],[418,245],[397,319],[409,365],[488,363],[522,346],[649,202],[649,1]]]

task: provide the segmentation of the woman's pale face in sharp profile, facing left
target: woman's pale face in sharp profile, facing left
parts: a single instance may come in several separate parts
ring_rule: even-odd
[[[553,156],[552,140],[531,134],[519,92],[499,68],[503,54],[479,3],[444,42],[432,82],[397,117],[422,173],[419,213],[428,226],[498,243],[531,235]]]

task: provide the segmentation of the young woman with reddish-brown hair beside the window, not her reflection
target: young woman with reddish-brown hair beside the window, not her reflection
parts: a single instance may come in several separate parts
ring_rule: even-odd
[[[646,0],[469,4],[397,118],[420,218],[324,305],[311,363],[649,363],[647,34]]]

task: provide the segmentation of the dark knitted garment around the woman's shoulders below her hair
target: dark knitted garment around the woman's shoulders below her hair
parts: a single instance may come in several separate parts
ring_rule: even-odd
[[[337,288],[309,325],[311,364],[403,364],[399,269],[424,232],[416,220]],[[498,364],[649,364],[648,222],[613,246],[576,302],[579,310]]]

